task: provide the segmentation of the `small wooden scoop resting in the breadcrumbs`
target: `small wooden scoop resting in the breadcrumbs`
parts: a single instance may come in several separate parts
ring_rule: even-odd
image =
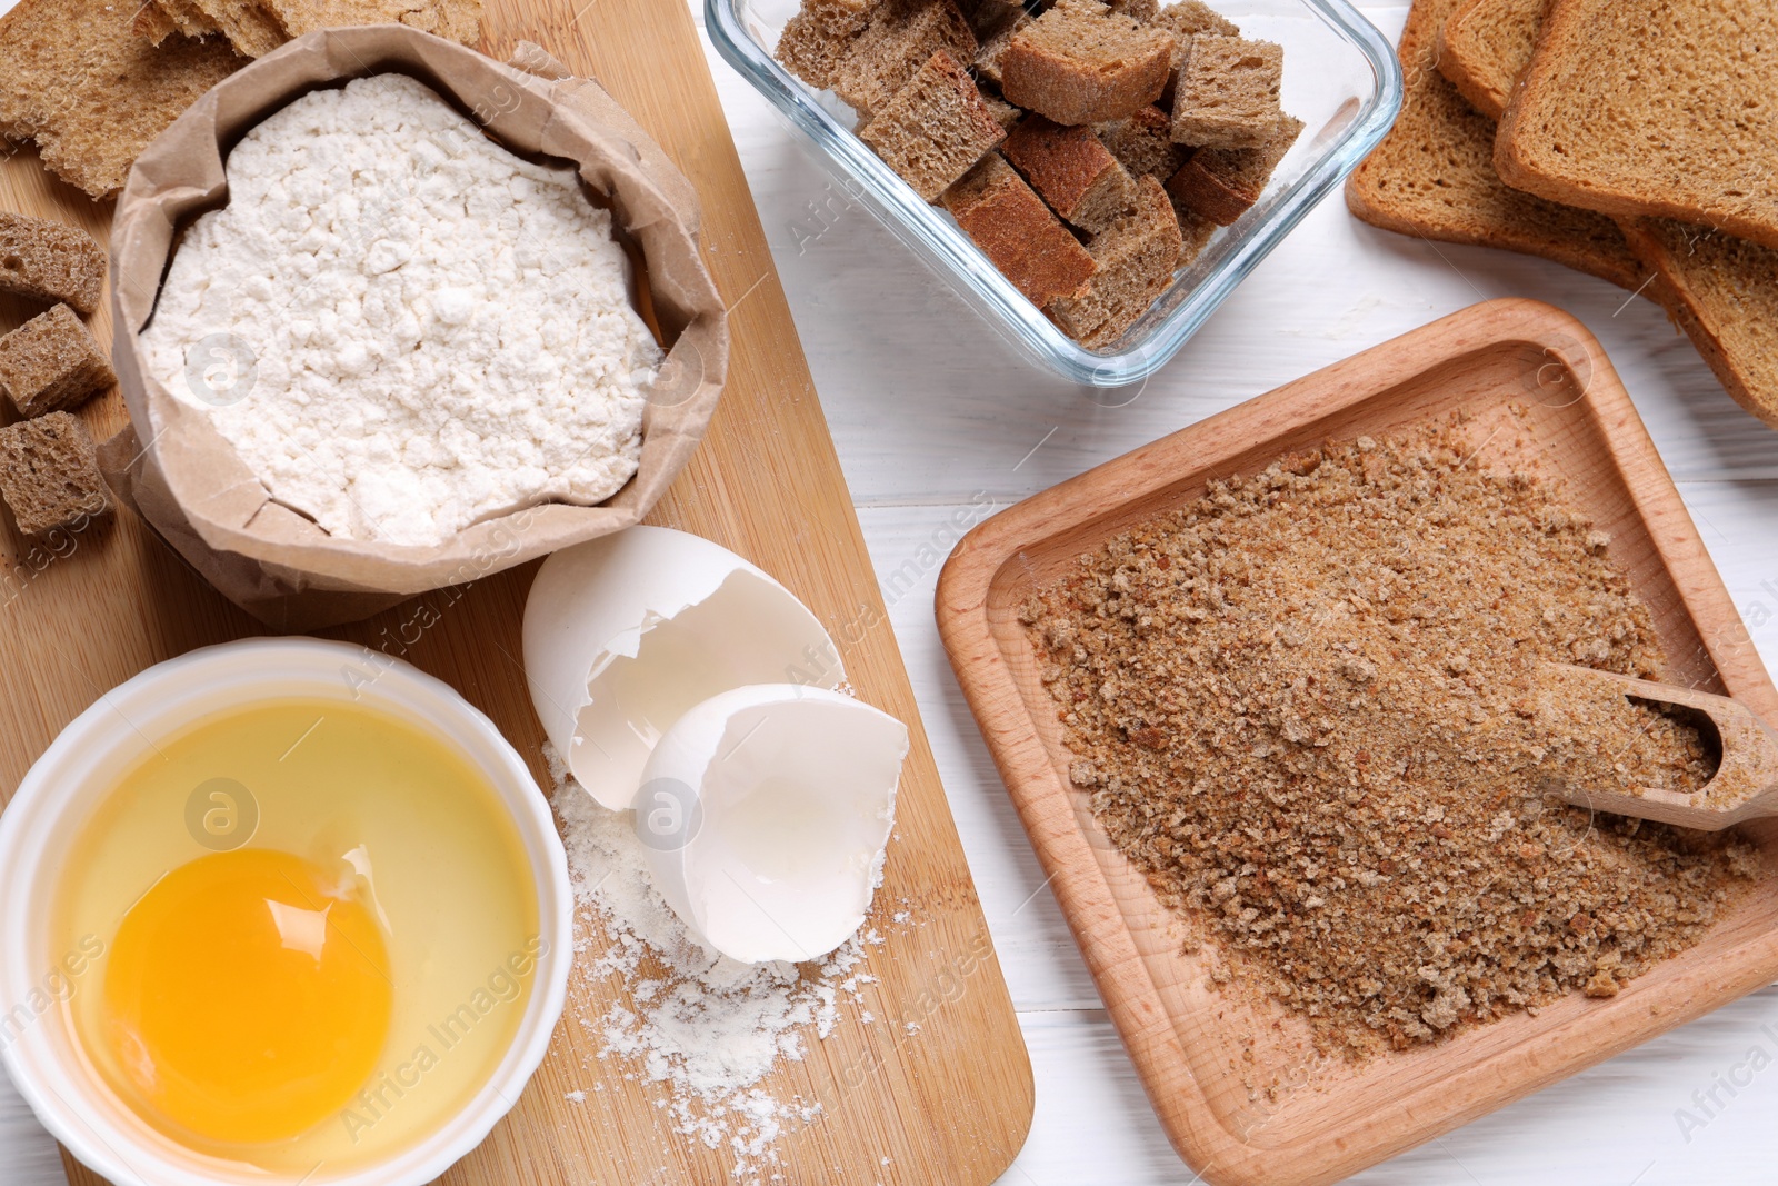
[[[1556,793],[1566,802],[1705,832],[1726,829],[1742,820],[1778,814],[1778,733],[1741,702],[1726,695],[1691,692],[1590,667],[1568,667],[1566,663],[1545,663],[1543,674],[1570,688],[1609,688],[1638,701],[1689,708],[1716,727],[1721,741],[1721,765],[1709,782],[1689,795],[1654,788],[1629,793],[1561,782]],[[1700,722],[1700,727],[1705,725]]]

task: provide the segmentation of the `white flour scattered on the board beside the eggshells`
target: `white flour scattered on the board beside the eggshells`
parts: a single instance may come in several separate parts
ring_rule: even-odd
[[[594,980],[617,982],[635,1003],[580,1024],[603,1042],[601,1056],[631,1060],[644,1079],[667,1088],[676,1131],[727,1149],[734,1175],[759,1181],[777,1165],[773,1143],[786,1127],[821,1111],[814,1101],[772,1095],[761,1079],[779,1060],[802,1062],[811,1037],[834,1031],[841,1006],[864,1001],[877,978],[859,964],[884,937],[864,930],[820,966],[740,964],[709,951],[654,891],[629,814],[594,802],[555,749],[546,745],[544,756],[580,905],[576,950]],[[585,962],[597,946],[589,926],[603,930],[606,946]],[[873,1019],[866,1010],[859,1021]]]

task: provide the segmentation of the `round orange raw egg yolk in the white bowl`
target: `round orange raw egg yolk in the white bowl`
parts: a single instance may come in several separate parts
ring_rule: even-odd
[[[389,1033],[389,957],[347,877],[236,848],[162,877],[124,914],[105,1033],[155,1118],[224,1143],[336,1113]]]

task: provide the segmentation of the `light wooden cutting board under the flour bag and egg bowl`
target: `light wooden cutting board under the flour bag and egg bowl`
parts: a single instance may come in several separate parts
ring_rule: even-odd
[[[795,590],[841,642],[859,695],[909,724],[896,839],[871,923],[878,983],[845,1008],[827,1040],[763,1085],[779,1099],[821,1101],[786,1133],[768,1181],[946,1182],[996,1179],[1031,1126],[1033,1085],[1006,983],[992,953],[914,693],[878,594],[852,498],[809,381],[740,158],[683,0],[489,0],[485,44],[505,59],[519,39],[590,75],[665,146],[704,203],[704,258],[731,311],[731,382],[699,453],[651,523],[715,539]],[[48,178],[36,155],[0,164],[0,208],[76,222],[101,242],[110,203]],[[36,309],[0,301],[0,331]],[[110,340],[108,313],[92,324]],[[96,436],[124,423],[112,393],[82,413]],[[50,740],[107,688],[192,647],[263,633],[133,516],[68,546],[32,549],[0,526],[0,793],[11,795]],[[60,555],[57,555],[60,553]],[[535,565],[430,594],[329,637],[388,651],[450,681],[501,727],[548,786],[516,660]],[[432,617],[418,629],[414,622]],[[907,910],[894,925],[889,916]],[[585,951],[596,958],[603,939]],[[613,1005],[576,974],[555,1044],[517,1108],[444,1181],[731,1182],[731,1159],[676,1134],[665,1090],[599,1058],[580,1017]],[[862,1010],[875,1021],[866,1024]],[[587,1090],[583,1102],[565,1099]],[[64,1156],[69,1181],[96,1182]],[[773,1174],[782,1174],[773,1179]]]

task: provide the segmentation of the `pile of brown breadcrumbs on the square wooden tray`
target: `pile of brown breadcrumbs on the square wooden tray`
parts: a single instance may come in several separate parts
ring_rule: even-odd
[[[1022,619],[1104,830],[1236,976],[1362,1058],[1613,996],[1758,873],[1732,834],[1554,795],[1714,768],[1622,697],[1609,727],[1552,720],[1540,663],[1662,665],[1607,548],[1442,423],[1211,482]]]

